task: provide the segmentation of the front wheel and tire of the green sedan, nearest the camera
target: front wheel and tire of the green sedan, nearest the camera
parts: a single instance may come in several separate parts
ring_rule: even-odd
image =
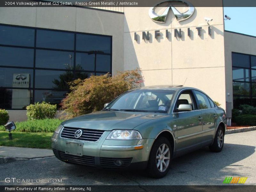
[[[164,177],[170,169],[171,159],[172,147],[170,141],[165,137],[156,139],[148,159],[148,175],[153,178]]]

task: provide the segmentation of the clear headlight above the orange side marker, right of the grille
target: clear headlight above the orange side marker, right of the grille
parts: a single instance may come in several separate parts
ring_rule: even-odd
[[[142,139],[141,134],[134,130],[113,130],[107,139],[134,140]]]

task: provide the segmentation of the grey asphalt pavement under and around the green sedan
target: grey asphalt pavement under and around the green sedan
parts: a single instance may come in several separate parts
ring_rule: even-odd
[[[0,164],[0,185],[222,185],[225,177],[248,177],[256,185],[256,131],[228,134],[222,152],[203,148],[172,160],[162,179],[145,171],[109,171],[66,164],[55,157]],[[6,183],[5,178],[33,179],[38,183]],[[44,179],[44,182],[42,180]],[[61,183],[46,182],[61,179]]]

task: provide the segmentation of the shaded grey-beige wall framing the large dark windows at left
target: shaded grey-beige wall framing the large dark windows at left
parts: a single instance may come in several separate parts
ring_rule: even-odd
[[[76,7],[0,7],[0,23],[112,36],[112,73],[124,69],[124,14]],[[8,110],[11,121],[25,110]]]

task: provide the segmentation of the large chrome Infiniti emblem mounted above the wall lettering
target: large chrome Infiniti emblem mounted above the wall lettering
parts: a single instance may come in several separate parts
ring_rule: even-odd
[[[166,9],[164,10],[164,12],[161,15],[158,15],[155,13],[155,9],[158,5],[163,4],[165,2],[169,2],[169,4],[166,6]],[[186,6],[188,6],[188,11],[186,12],[179,12],[175,7],[172,6],[172,2],[178,2],[178,3],[183,3]],[[169,13],[169,10],[172,9],[173,14],[175,15],[176,19],[178,21],[183,21],[188,19],[189,17],[191,17],[195,11],[195,7],[193,7],[193,5],[189,2],[186,2],[184,0],[168,0],[168,1],[163,1],[161,3],[156,4],[154,7],[151,7],[148,11],[148,15],[149,17],[155,21],[155,22],[159,22],[159,23],[165,23],[166,21],[166,17]]]

